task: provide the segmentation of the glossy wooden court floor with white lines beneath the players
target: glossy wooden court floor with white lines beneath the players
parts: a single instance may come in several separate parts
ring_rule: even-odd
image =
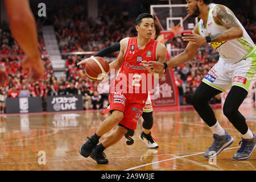
[[[255,107],[241,106],[240,111],[256,134]],[[213,142],[209,128],[193,109],[180,107],[176,111],[155,110],[152,136],[159,144],[158,149],[148,149],[138,138],[142,132],[140,121],[134,144],[127,146],[125,139],[121,139],[105,150],[109,159],[109,164],[105,165],[79,154],[86,137],[93,135],[106,117],[101,111],[1,114],[0,170],[255,171],[256,151],[249,160],[233,160],[241,136],[221,109],[214,112],[222,127],[234,138],[234,143],[222,151],[216,161],[203,156]]]

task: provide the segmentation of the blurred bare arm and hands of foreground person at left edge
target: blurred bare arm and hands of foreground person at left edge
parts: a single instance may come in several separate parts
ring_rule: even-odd
[[[31,68],[28,82],[30,84],[43,77],[44,65],[38,49],[38,35],[34,16],[29,1],[5,0],[11,33],[24,51],[27,58],[22,61],[23,69]],[[0,86],[5,85],[8,76],[5,68],[0,65]]]

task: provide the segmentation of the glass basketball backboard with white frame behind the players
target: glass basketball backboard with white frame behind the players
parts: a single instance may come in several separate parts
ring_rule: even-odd
[[[192,30],[198,22],[198,18],[188,15],[185,4],[151,5],[150,13],[164,31],[170,31],[172,27],[180,27],[180,31]]]

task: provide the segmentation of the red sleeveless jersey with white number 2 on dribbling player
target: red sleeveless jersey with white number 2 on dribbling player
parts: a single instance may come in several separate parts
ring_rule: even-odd
[[[129,38],[122,67],[115,78],[115,92],[120,92],[121,89],[123,93],[135,93],[141,99],[147,97],[154,78],[140,63],[156,61],[157,44],[158,41],[150,39],[144,49],[138,49],[137,37]]]

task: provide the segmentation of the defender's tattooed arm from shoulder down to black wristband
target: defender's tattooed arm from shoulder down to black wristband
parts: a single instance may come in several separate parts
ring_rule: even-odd
[[[221,24],[227,30],[220,34],[210,35],[211,42],[221,42],[241,38],[243,36],[243,30],[238,24],[236,16],[228,7],[223,5],[214,7],[213,18],[216,23]]]

